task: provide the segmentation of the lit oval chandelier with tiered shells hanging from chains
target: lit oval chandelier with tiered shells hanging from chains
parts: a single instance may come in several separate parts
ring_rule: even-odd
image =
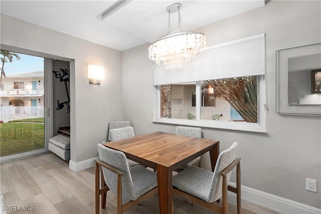
[[[169,13],[169,33],[153,42],[148,48],[148,57],[157,65],[161,62],[165,69],[178,69],[183,67],[183,62],[194,59],[196,54],[206,48],[205,35],[193,31],[181,30],[181,4],[171,5],[166,9]],[[178,12],[179,30],[171,32],[171,14]]]

